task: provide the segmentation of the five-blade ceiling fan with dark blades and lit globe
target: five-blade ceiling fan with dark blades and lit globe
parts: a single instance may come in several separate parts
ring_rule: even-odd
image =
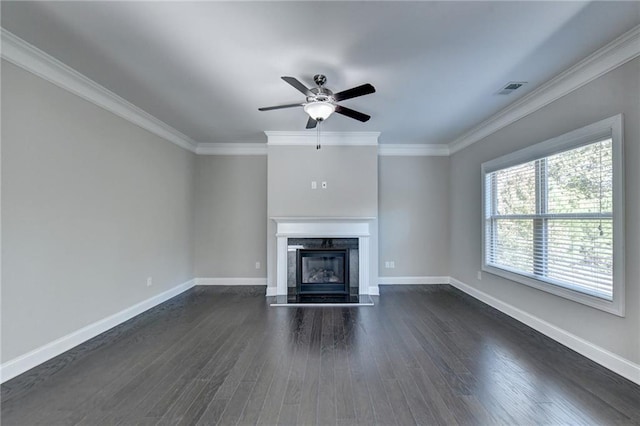
[[[363,123],[371,118],[371,116],[367,114],[338,105],[338,102],[340,101],[374,93],[376,89],[369,83],[348,90],[343,90],[342,92],[333,93],[331,90],[324,87],[327,82],[327,78],[322,74],[313,76],[313,81],[316,83],[317,87],[311,89],[307,88],[307,86],[294,77],[282,77],[282,79],[303,93],[307,97],[307,101],[299,104],[258,108],[259,111],[303,107],[304,112],[309,115],[307,129],[313,129],[319,121],[326,120],[334,112],[362,121]]]

